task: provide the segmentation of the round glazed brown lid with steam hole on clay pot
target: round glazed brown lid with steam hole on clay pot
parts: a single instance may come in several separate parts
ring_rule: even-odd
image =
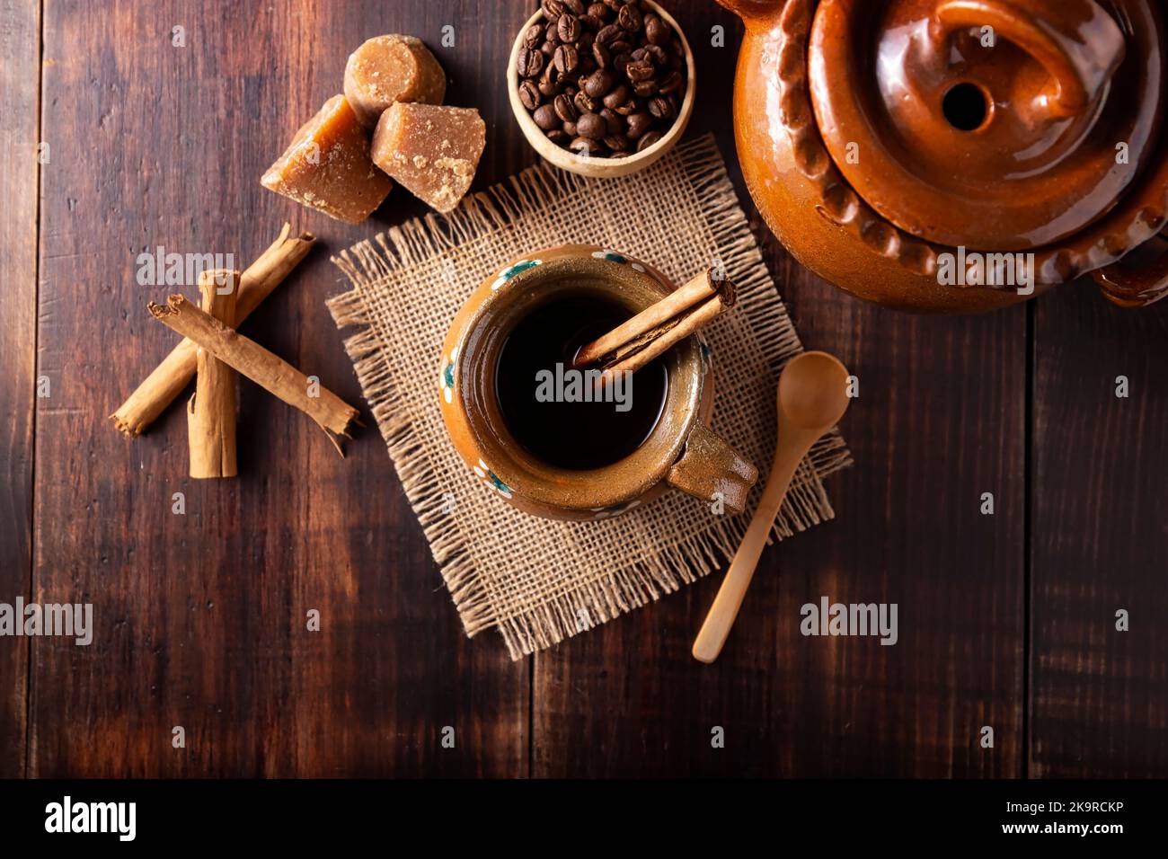
[[[1147,0],[821,0],[807,82],[832,160],[880,215],[1026,250],[1164,159],[1164,37]]]

